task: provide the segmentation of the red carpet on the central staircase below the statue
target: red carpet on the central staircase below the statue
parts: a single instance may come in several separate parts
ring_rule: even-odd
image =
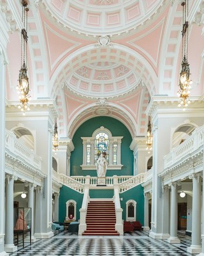
[[[110,201],[92,201],[87,208],[87,230],[82,236],[119,236],[115,230],[115,204]]]

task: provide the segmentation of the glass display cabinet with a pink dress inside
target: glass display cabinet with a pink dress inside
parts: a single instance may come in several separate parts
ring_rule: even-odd
[[[31,208],[18,207],[14,209],[14,234],[18,237],[22,235],[23,248],[25,234],[30,233],[31,244]]]

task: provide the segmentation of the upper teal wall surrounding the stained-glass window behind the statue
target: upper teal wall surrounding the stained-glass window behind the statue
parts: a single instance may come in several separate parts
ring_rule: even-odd
[[[75,150],[71,152],[70,175],[71,176],[97,176],[96,170],[83,170],[80,165],[83,163],[83,145],[81,137],[91,137],[92,133],[99,127],[104,126],[112,136],[123,136],[121,143],[121,164],[122,170],[107,170],[106,176],[113,175],[133,175],[133,151],[129,149],[132,142],[131,134],[124,124],[108,116],[99,116],[91,118],[84,122],[73,136],[73,145]]]

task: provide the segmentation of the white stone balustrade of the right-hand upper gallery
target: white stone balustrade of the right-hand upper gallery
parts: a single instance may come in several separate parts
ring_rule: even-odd
[[[164,156],[164,169],[172,164],[178,163],[189,154],[193,153],[204,144],[204,125],[195,129],[193,134],[181,143],[177,148],[173,148],[171,152]]]

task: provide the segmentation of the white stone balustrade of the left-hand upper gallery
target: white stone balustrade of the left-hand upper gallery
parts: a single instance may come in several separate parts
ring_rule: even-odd
[[[5,152],[13,157],[18,158],[20,161],[27,163],[29,166],[34,166],[37,170],[41,171],[41,157],[34,154],[32,150],[25,147],[18,139],[15,137],[13,132],[5,131]]]

